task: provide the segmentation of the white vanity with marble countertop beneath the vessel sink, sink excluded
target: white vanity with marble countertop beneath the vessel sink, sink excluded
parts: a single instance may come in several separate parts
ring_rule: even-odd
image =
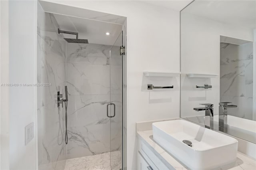
[[[156,136],[155,136],[156,137]],[[164,148],[158,145],[153,139],[152,130],[144,130],[137,132],[138,139],[138,166],[137,170],[187,170],[180,160],[167,152]],[[248,145],[244,145],[248,146]],[[166,146],[171,147],[171,146]],[[251,147],[251,146],[250,146]],[[253,149],[253,148],[251,148]],[[183,152],[187,154],[187,152]],[[219,152],[216,152],[219,153]],[[212,154],[211,154],[212,155]],[[214,154],[213,154],[214,155]],[[220,166],[218,169],[234,170],[255,170],[256,162],[245,154],[237,152],[237,160],[235,164]],[[135,169],[135,168],[134,168]]]

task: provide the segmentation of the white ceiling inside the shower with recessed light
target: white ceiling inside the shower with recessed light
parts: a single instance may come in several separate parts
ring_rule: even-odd
[[[85,18],[71,17],[54,14],[60,30],[78,32],[79,39],[88,39],[89,43],[114,45],[122,31],[122,25],[109,22],[90,20]],[[110,35],[106,35],[109,32]],[[75,35],[63,34],[65,38],[76,38]],[[121,44],[120,38],[115,45]]]

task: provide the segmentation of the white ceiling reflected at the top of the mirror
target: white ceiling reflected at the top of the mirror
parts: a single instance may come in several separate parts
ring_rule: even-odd
[[[256,0],[195,0],[182,12],[250,29],[256,28]]]

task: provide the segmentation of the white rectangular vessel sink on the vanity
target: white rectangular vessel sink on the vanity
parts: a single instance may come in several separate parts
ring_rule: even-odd
[[[236,161],[238,141],[184,120],[152,124],[153,138],[192,170],[214,169]],[[192,142],[188,146],[183,140]]]

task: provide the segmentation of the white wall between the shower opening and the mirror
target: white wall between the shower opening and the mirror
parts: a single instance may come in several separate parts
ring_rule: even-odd
[[[127,17],[127,169],[136,169],[135,123],[179,117],[178,78],[169,81],[176,83],[168,93],[171,102],[150,103],[149,92],[142,90],[143,71],[180,71],[179,12],[131,1],[54,2]]]

